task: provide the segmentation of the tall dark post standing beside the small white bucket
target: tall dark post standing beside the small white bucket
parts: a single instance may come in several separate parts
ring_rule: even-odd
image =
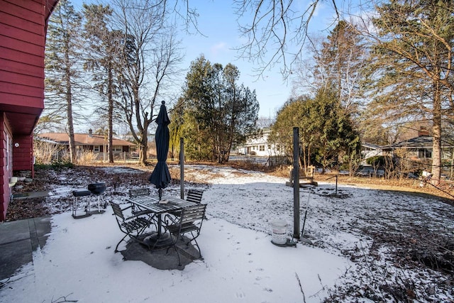
[[[293,238],[299,239],[299,128],[293,128]]]

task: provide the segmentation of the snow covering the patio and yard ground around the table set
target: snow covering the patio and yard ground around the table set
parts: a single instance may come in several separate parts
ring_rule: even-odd
[[[121,254],[114,253],[122,235],[110,209],[80,220],[65,211],[53,216],[48,243],[35,253],[33,268],[26,265],[16,275],[18,280],[0,289],[0,302],[59,302],[62,296],[77,302],[454,299],[449,267],[446,273],[421,264],[426,258],[416,250],[443,246],[444,250],[427,253],[452,254],[453,248],[445,246],[453,241],[453,206],[404,192],[353,186],[339,186],[336,191],[334,184],[319,184],[300,190],[299,225],[304,225],[314,245],[281,248],[270,243],[271,223],[287,221],[291,238],[293,189],[285,186],[286,178],[230,167],[185,168],[185,176],[209,184],[200,185],[205,190],[202,203],[208,204],[208,220],[198,241],[203,262],[180,271],[123,261]],[[133,174],[129,170],[117,167],[115,173]],[[126,192],[128,186],[117,184],[116,191]],[[71,190],[71,186],[56,187],[49,199]],[[168,187],[165,194],[179,196],[179,185]],[[121,195],[109,199],[124,202]],[[439,239],[448,242],[442,245]],[[402,252],[404,248],[410,251]],[[453,260],[452,255],[446,260]]]

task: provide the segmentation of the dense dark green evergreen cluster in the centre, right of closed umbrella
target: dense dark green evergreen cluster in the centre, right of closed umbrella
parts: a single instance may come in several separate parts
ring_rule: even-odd
[[[257,131],[257,97],[236,83],[239,75],[236,66],[212,65],[204,56],[192,62],[180,103],[185,151],[194,160],[226,162],[232,146]]]

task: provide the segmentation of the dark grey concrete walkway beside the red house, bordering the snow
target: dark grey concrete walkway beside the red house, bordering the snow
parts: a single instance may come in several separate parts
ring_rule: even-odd
[[[0,283],[33,262],[33,251],[43,248],[50,233],[50,217],[0,223]]]

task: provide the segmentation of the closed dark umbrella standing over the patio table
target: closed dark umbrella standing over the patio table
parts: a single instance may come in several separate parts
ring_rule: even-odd
[[[170,172],[169,167],[167,167],[167,153],[169,152],[169,140],[170,140],[170,133],[169,133],[169,123],[170,119],[167,116],[167,109],[165,108],[165,101],[162,101],[161,108],[159,110],[159,114],[157,114],[157,129],[155,135],[156,141],[156,153],[157,153],[157,165],[153,172],[151,173],[148,180],[156,186],[160,193],[163,188],[167,187],[170,183]]]

